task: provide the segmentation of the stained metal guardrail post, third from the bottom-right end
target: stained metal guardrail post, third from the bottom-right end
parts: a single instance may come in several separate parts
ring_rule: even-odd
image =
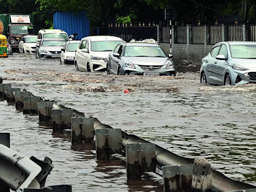
[[[109,160],[111,154],[121,154],[121,129],[95,129],[96,158]]]

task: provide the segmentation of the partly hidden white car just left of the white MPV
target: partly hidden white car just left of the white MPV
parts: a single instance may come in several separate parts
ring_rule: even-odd
[[[80,43],[79,40],[66,41],[63,48],[61,48],[60,64],[74,63],[74,54],[75,54],[75,50],[78,48],[79,43]]]

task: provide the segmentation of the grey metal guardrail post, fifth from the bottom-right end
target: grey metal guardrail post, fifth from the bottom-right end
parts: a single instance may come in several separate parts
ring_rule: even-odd
[[[70,129],[72,116],[72,109],[51,110],[53,132],[62,132],[63,129]]]

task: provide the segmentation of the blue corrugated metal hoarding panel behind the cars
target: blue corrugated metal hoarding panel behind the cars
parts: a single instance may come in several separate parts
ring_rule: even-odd
[[[53,28],[62,29],[68,35],[77,33],[79,39],[89,36],[89,20],[85,10],[57,11],[53,14]]]

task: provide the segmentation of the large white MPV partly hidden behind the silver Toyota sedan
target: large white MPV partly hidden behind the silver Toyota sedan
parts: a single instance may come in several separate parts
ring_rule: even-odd
[[[82,38],[75,52],[75,69],[105,71],[108,54],[120,42],[124,41],[115,36],[87,36]]]

